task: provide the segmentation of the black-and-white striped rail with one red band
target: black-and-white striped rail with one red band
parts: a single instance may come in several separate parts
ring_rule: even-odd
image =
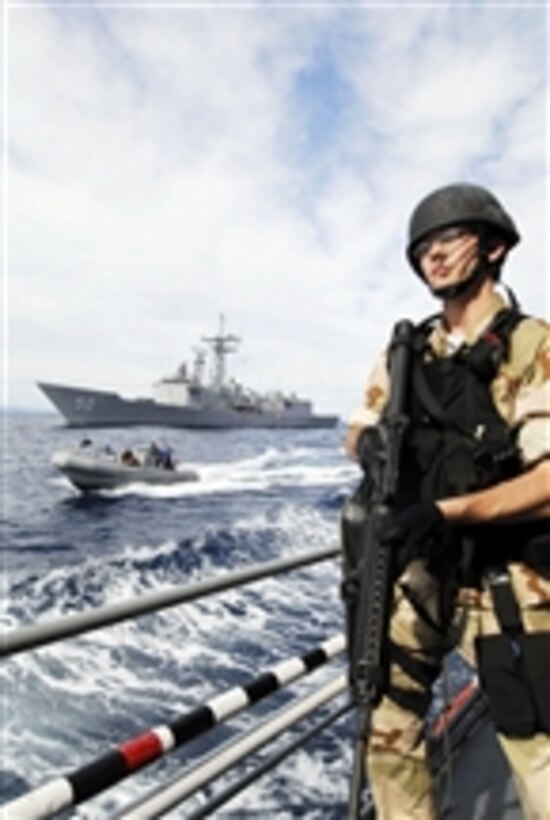
[[[18,820],[40,820],[89,800],[248,706],[308,675],[344,649],[343,635],[329,638],[304,655],[281,661],[244,686],[236,686],[212,698],[172,723],[138,735],[70,774],[0,806],[0,811]]]

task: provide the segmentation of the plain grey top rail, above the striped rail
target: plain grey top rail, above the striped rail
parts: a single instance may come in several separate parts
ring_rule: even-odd
[[[255,564],[252,567],[224,573],[218,577],[207,578],[194,584],[159,590],[141,598],[119,601],[90,612],[79,612],[75,615],[67,615],[63,618],[44,621],[32,626],[19,627],[0,635],[0,657],[36,649],[64,638],[90,632],[93,629],[111,626],[130,618],[157,612],[160,609],[195,601],[205,595],[212,595],[253,581],[280,575],[289,570],[320,563],[329,558],[335,558],[339,554],[339,546],[326,547],[290,558]]]

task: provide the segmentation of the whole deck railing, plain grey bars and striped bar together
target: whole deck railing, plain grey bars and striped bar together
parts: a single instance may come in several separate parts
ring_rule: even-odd
[[[168,607],[196,601],[224,590],[331,560],[339,554],[339,546],[314,550],[302,555],[245,567],[193,584],[160,590],[139,599],[117,602],[100,609],[22,626],[1,636],[0,656],[9,657],[17,653],[36,650],[84,632],[108,627]],[[344,650],[344,636],[333,636],[304,655],[283,660],[243,686],[221,693],[190,713],[179,716],[172,723],[155,727],[138,737],[122,742],[115,749],[111,749],[70,774],[57,777],[49,783],[0,805],[0,814],[5,820],[12,820],[12,818],[13,820],[39,820],[39,818],[56,817],[60,812],[65,812],[67,808],[82,803],[114,786],[123,778],[208,731],[222,720],[229,719],[242,709],[278,691],[281,687],[312,673],[321,665],[341,655]],[[247,755],[273,741],[282,732],[292,729],[305,718],[309,718],[325,707],[330,701],[344,696],[347,688],[346,675],[340,673],[305,698],[301,700],[294,698],[291,706],[272,715],[252,731],[241,733],[225,747],[217,747],[210,756],[200,760],[190,770],[184,771],[175,781],[157,788],[153,794],[143,798],[139,804],[128,807],[119,816],[126,820],[130,818],[144,820],[161,816],[200,788],[211,783],[229,768],[240,763]],[[209,808],[203,806],[198,813],[195,812],[195,815],[197,817],[207,816],[207,813],[213,812],[218,805],[246,788],[250,782],[273,768],[280,760],[306,743],[314,734],[338,720],[350,708],[349,699],[345,698],[345,702],[341,703],[331,714],[325,715],[316,725],[310,726],[303,735],[293,740],[284,750],[278,750],[270,760],[262,763],[254,774],[247,773],[237,783],[226,788],[212,801]]]

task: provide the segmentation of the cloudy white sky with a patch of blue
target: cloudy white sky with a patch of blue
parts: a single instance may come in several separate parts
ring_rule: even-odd
[[[346,418],[432,189],[489,187],[549,313],[544,3],[15,2],[3,53],[3,404],[148,396],[218,328],[230,375]]]

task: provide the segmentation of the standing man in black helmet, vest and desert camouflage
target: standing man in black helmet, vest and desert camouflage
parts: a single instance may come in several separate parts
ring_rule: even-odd
[[[442,311],[416,329],[401,488],[382,532],[399,571],[366,756],[379,820],[436,817],[424,717],[453,633],[525,816],[550,818],[550,327],[498,284],[519,241],[478,185],[433,191],[410,219],[408,261]],[[384,353],[346,438],[366,472],[388,382]]]

